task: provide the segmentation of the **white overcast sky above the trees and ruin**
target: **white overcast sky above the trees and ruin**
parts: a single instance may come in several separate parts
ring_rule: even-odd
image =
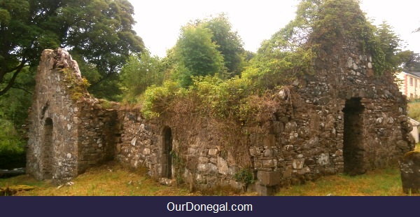
[[[179,36],[179,29],[190,20],[226,13],[238,31],[244,48],[255,52],[264,39],[295,18],[298,0],[129,0],[134,6],[134,30],[143,38],[153,55],[164,57]],[[360,5],[368,18],[378,25],[386,20],[405,41],[407,50],[420,52],[418,0],[363,0]]]

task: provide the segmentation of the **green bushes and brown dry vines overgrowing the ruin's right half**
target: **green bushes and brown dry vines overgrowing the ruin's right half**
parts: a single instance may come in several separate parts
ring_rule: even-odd
[[[226,130],[235,132],[237,137],[221,138],[221,146],[241,171],[250,166],[248,153],[240,152],[246,150],[240,147],[248,147],[249,136],[242,126],[269,120],[265,114],[281,104],[276,93],[288,92],[297,78],[314,73],[316,57],[335,52],[335,45],[350,39],[372,55],[377,76],[398,68],[394,57],[399,51],[398,36],[386,25],[374,27],[354,0],[302,0],[295,20],[263,41],[238,76],[225,76],[221,66],[228,64],[221,45],[212,41],[214,33],[200,23],[181,29],[178,43],[165,59],[172,63],[167,68],[172,76],[162,86],[144,92],[142,112],[146,118],[165,117],[181,131],[198,130],[205,121],[221,135]],[[188,121],[191,117],[193,121]],[[237,174],[237,179],[248,180],[245,175]]]

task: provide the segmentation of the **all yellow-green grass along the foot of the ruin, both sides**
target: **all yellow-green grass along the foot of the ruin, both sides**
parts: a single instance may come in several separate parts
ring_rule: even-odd
[[[420,145],[416,146],[420,150]],[[162,186],[142,171],[130,171],[116,164],[92,168],[73,179],[73,186],[57,186],[36,181],[31,176],[0,179],[0,188],[7,186],[34,186],[34,190],[18,196],[201,196],[201,195],[256,195],[235,193],[230,189],[190,192],[189,186]],[[402,192],[400,171],[397,167],[378,169],[360,176],[338,174],[327,176],[302,186],[282,188],[277,196],[407,196]],[[417,195],[419,196],[419,195]]]

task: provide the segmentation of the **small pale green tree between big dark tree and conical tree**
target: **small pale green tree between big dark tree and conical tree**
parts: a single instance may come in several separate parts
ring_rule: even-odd
[[[121,80],[126,98],[135,99],[151,85],[162,85],[164,73],[158,56],[151,56],[148,50],[133,54],[121,69]]]

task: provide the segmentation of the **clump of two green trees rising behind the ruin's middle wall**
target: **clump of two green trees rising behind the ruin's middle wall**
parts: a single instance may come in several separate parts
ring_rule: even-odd
[[[238,76],[246,65],[246,55],[227,16],[219,14],[183,26],[165,60],[172,59],[168,66],[172,78],[182,87],[189,87],[193,85],[191,76],[217,75],[224,79]]]

